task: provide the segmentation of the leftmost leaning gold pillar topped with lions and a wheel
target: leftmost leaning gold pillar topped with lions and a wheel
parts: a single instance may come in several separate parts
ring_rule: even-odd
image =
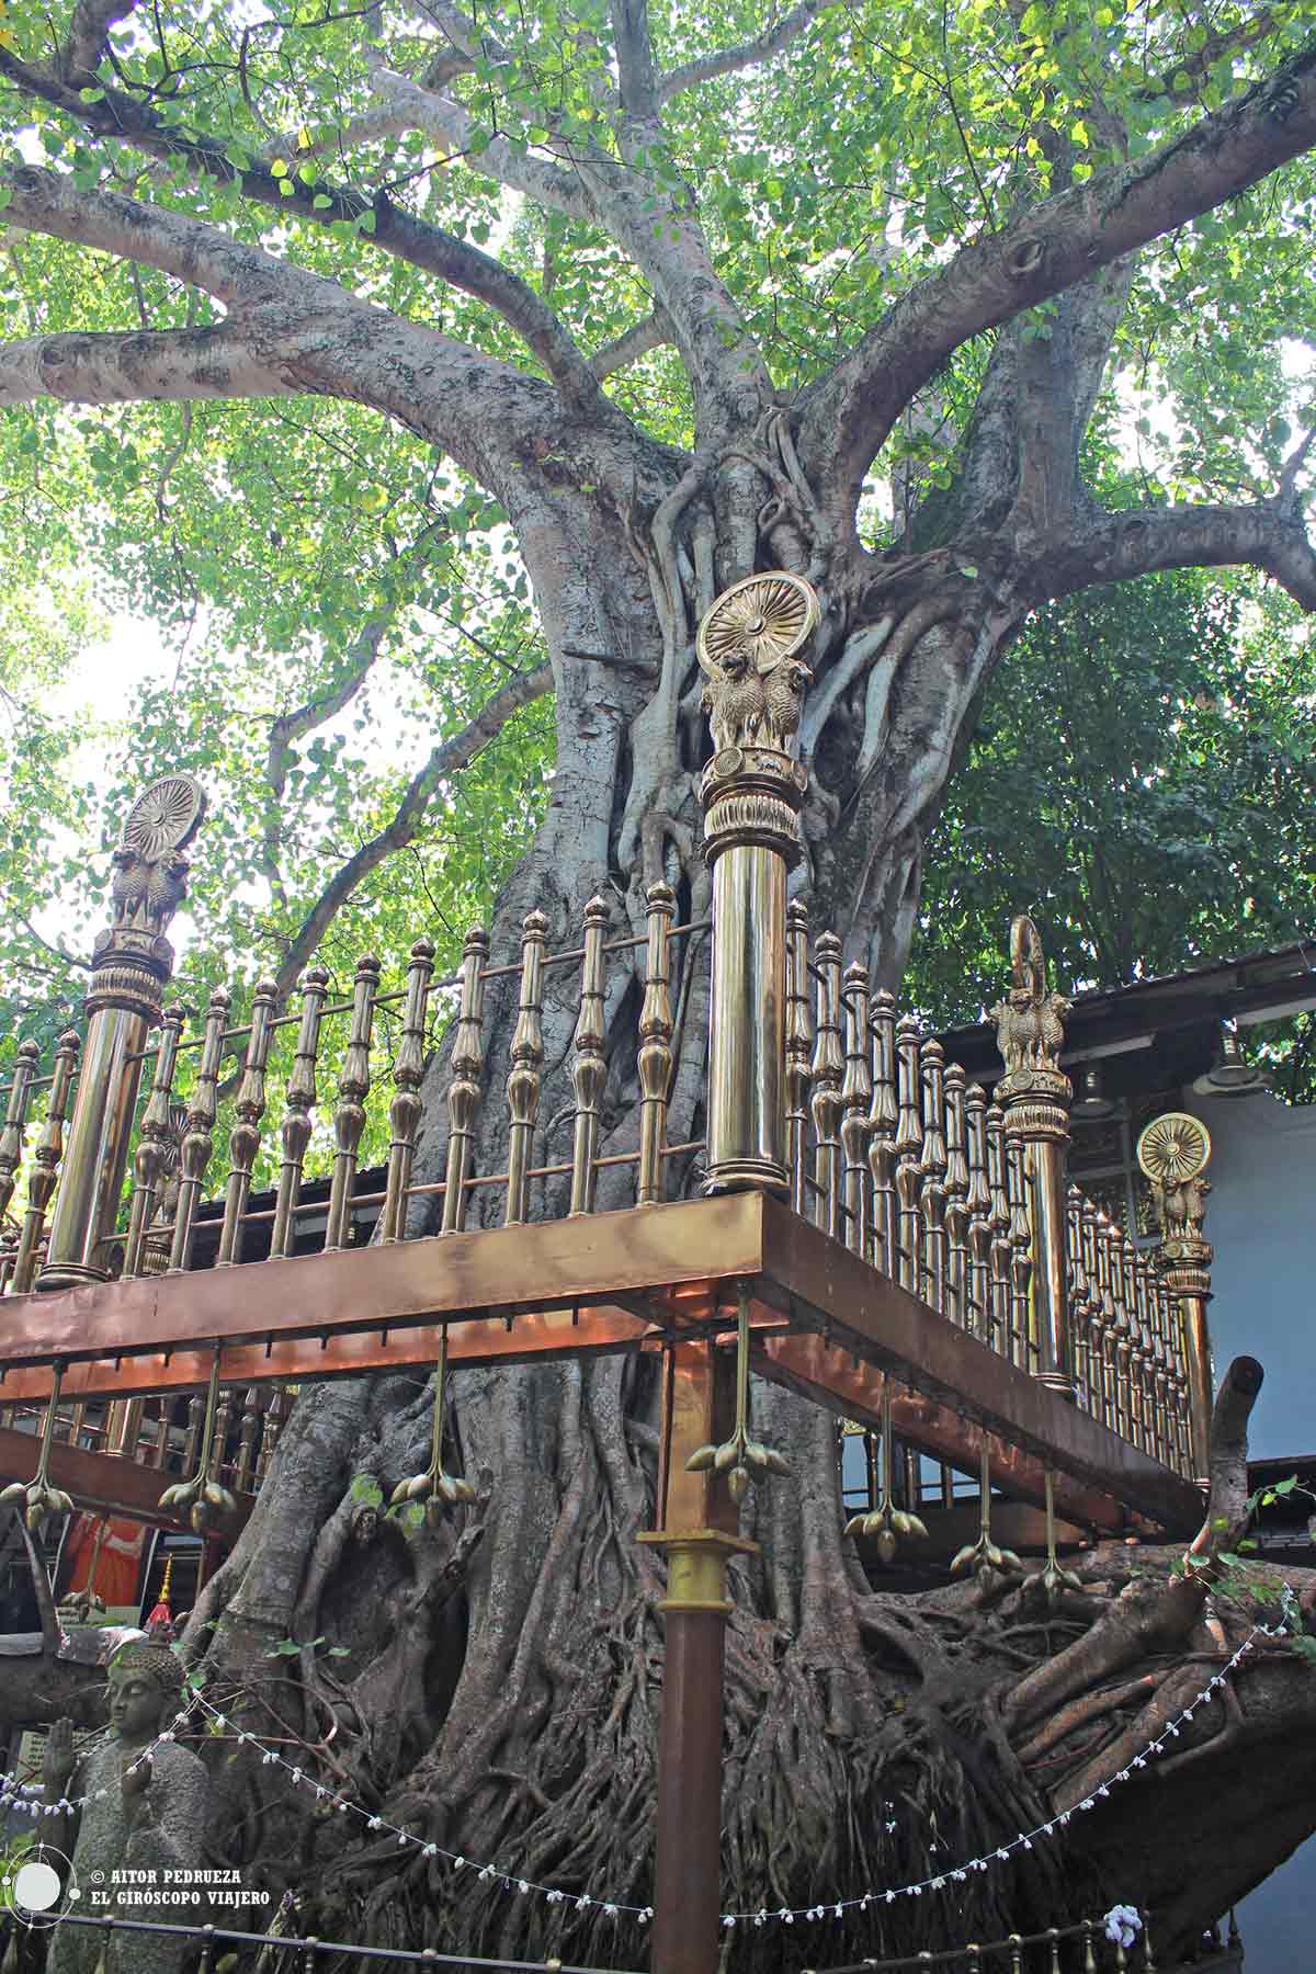
[[[160,1021],[164,983],[174,969],[164,932],[185,890],[183,845],[203,815],[199,784],[189,774],[170,774],[138,796],[114,851],[114,920],[99,934],[91,957],[83,1070],[37,1289],[71,1289],[110,1275],[105,1242],[118,1216],[140,1052]]]

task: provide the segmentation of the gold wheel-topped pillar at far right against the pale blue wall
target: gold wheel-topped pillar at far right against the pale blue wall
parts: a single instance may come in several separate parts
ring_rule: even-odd
[[[1202,1175],[1209,1161],[1211,1137],[1202,1119],[1188,1111],[1166,1111],[1162,1117],[1154,1117],[1138,1137],[1138,1165],[1150,1180],[1160,1218],[1162,1238],[1156,1263],[1180,1315],[1180,1350],[1188,1374],[1192,1471],[1198,1486],[1209,1486],[1211,1407],[1215,1404],[1211,1330],[1206,1319],[1215,1250],[1202,1234],[1206,1196],[1211,1190],[1211,1180]]]

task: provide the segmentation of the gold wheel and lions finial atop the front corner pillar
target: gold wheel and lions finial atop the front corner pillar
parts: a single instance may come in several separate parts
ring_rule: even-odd
[[[799,732],[813,671],[799,657],[819,622],[819,600],[803,576],[773,569],[732,582],[698,626],[700,699],[716,752],[760,746],[789,750]]]

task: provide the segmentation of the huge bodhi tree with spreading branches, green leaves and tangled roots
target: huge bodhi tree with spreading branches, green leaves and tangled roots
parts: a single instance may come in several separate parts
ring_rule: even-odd
[[[401,513],[385,606],[432,582],[436,543],[472,515],[479,553],[505,565],[515,547],[533,588],[545,665],[470,707],[468,738],[410,809],[414,823],[475,746],[552,693],[550,797],[501,886],[495,957],[531,908],[568,940],[594,894],[635,930],[657,878],[683,916],[704,912],[693,642],[750,570],[797,570],[823,600],[803,888],[886,983],[947,778],[1034,608],[1190,565],[1247,565],[1316,604],[1292,418],[1316,144],[1300,8],[8,0],[0,79],[6,280],[28,332],[0,347],[0,399],[30,407],[10,460],[16,529],[37,543],[81,529],[136,594],[168,596],[170,569],[185,570],[166,614],[187,592],[251,649],[284,647],[298,612],[324,634],[322,675],[272,730],[274,924],[278,797],[318,713],[353,699],[391,636],[387,608],[345,634],[341,563],[318,553],[361,513],[365,456],[387,454],[365,511]],[[1136,389],[1156,397],[1140,417]],[[1099,409],[1125,417],[1134,499],[1095,492]],[[253,495],[245,533],[231,509],[249,497],[253,434],[276,422],[260,456],[278,499]],[[312,462],[337,472],[337,494]],[[288,553],[302,535],[310,551]],[[375,578],[361,588],[373,606]],[[489,644],[487,622],[464,632]],[[402,805],[371,819],[369,869],[406,829]],[[272,957],[296,971],[351,894],[308,914],[306,938],[284,918]],[[574,1023],[554,995],[548,1157]],[[637,1131],[637,999],[623,979],[606,1007],[610,1151]],[[685,1141],[700,1123],[696,979],[681,1011]],[[501,1088],[505,981],[487,1013]],[[418,1177],[442,1171],[442,1076],[440,1054]],[[1245,1400],[1247,1380],[1229,1386],[1229,1526]],[[1144,1579],[1131,1552],[1097,1552],[1089,1595],[1044,1615],[1018,1593],[872,1591],[841,1536],[833,1423],[779,1392],[758,1407],[797,1479],[746,1508],[762,1557],[734,1571],[736,1909],[981,1856],[1097,1788],[1245,1634],[1233,1605],[1209,1607],[1209,1575],[1166,1587],[1156,1552],[1138,1552]],[[219,1840],[282,1869],[324,1935],[612,1952],[598,1901],[643,1903],[649,1883],[661,1581],[633,1536],[653,1488],[651,1374],[633,1360],[464,1374],[450,1433],[475,1508],[410,1546],[393,1528],[353,1542],[363,1506],[414,1471],[430,1409],[399,1378],[310,1390],[191,1646],[251,1692],[294,1662],[280,1642],[302,1642],[274,1698],[333,1786],[594,1903],[509,1899],[501,1879],[422,1856],[401,1865],[391,1844],[272,1798],[245,1761],[225,1771]],[[333,1668],[310,1642],[324,1636],[347,1650]],[[1150,1901],[1170,1940],[1192,1936],[1306,1836],[1314,1723],[1308,1668],[1267,1648],[1119,1806],[951,1901],[856,1919],[852,1944],[1060,1921],[1087,1885]],[[1247,1834],[1223,1828],[1229,1792],[1247,1798]],[[801,1950],[842,1938],[791,1935]],[[728,1952],[775,1966],[781,1940],[740,1929]]]

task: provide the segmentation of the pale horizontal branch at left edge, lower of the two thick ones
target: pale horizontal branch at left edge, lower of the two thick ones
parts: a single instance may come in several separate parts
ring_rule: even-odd
[[[30,405],[37,397],[71,405],[288,397],[298,389],[231,324],[126,336],[28,336],[0,343],[0,405]]]

